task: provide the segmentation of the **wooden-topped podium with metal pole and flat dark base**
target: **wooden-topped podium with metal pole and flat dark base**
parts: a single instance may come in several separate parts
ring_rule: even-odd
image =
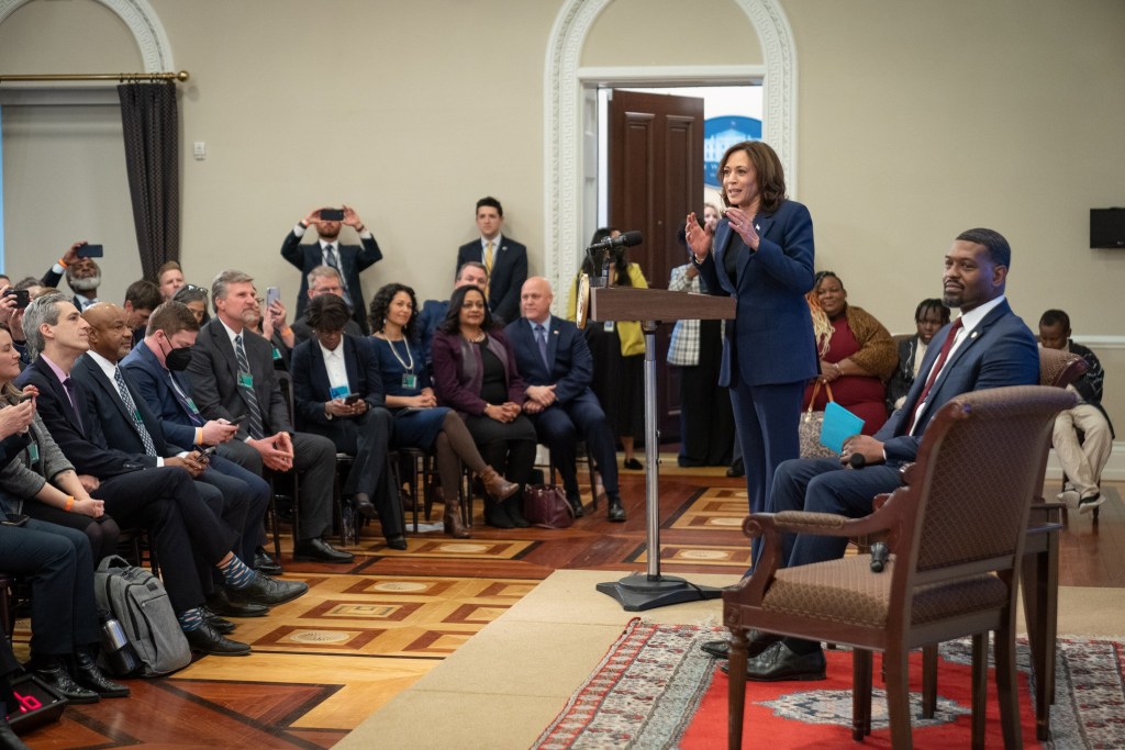
[[[673,320],[719,320],[735,317],[732,297],[693,295],[664,289],[600,287],[591,289],[590,319],[640,320],[645,332],[645,508],[648,525],[648,572],[598,584],[597,590],[621,603],[626,612],[642,612],[682,602],[717,599],[722,589],[696,586],[660,575],[659,434],[656,428],[656,328]]]

